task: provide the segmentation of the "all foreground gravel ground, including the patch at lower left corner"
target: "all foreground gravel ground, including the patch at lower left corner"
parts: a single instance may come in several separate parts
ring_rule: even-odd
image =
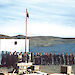
[[[60,73],[60,67],[61,65],[40,65],[40,71],[45,73]],[[0,72],[9,72],[12,71],[13,68],[6,68],[2,67],[0,68]],[[75,65],[72,65],[72,73],[75,74]]]

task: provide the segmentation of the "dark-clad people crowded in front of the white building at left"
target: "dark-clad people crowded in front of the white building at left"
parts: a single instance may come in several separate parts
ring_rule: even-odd
[[[22,52],[6,52],[5,54],[2,53],[1,65],[6,67],[15,67],[17,63],[20,62],[28,62],[29,61],[29,54]]]

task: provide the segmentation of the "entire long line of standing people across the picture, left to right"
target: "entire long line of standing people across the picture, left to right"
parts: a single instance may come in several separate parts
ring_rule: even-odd
[[[73,65],[75,64],[75,56],[74,54],[52,54],[49,53],[22,53],[22,52],[6,52],[5,54],[2,52],[1,65],[6,67],[13,66],[16,68],[16,64],[20,62],[33,62],[36,65]]]

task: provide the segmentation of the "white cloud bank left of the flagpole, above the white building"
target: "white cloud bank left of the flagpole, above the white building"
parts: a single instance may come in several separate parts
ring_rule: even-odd
[[[18,22],[18,21],[11,21],[7,22],[6,26],[1,26],[0,27],[1,34],[6,34],[6,35],[16,35],[16,34],[24,34],[25,30],[25,23],[24,22]]]

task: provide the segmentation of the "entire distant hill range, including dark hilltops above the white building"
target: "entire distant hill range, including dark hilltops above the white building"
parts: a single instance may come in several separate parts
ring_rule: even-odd
[[[75,43],[75,38],[60,38],[53,36],[34,36],[28,38],[30,40],[30,46],[52,46],[54,44]],[[7,36],[0,34],[0,39],[25,39],[25,36]]]

